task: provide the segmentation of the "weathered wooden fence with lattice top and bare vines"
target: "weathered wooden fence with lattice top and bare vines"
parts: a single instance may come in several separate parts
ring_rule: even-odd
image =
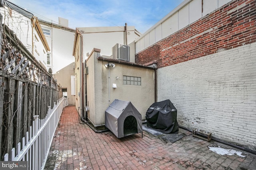
[[[33,122],[62,97],[60,86],[6,25],[0,58],[0,160],[17,148]]]

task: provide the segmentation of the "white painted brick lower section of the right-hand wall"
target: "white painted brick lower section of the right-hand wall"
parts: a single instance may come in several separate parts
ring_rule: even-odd
[[[178,123],[256,150],[256,43],[157,70],[158,101]]]

